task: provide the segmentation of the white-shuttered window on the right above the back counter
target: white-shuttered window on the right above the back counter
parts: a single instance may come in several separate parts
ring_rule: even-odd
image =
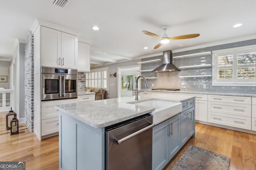
[[[212,51],[213,86],[255,86],[256,45]]]

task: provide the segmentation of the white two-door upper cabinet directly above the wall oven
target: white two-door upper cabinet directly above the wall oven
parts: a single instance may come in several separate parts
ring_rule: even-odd
[[[78,38],[41,27],[41,66],[77,68]]]

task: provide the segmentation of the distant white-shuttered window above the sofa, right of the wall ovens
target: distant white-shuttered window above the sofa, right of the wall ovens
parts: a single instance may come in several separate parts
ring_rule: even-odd
[[[94,69],[86,73],[85,85],[108,90],[108,67]]]

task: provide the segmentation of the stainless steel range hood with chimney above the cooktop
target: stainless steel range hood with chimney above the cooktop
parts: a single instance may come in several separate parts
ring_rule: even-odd
[[[168,71],[180,71],[176,66],[172,64],[172,51],[164,51],[163,64],[152,70],[152,72],[168,72]]]

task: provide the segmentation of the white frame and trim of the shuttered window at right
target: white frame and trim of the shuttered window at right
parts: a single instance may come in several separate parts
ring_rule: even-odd
[[[239,79],[237,71],[240,65],[237,64],[237,54],[240,50],[252,49],[256,48],[256,45],[248,45],[243,47],[235,47],[230,49],[222,49],[212,51],[212,86],[256,86],[256,78],[254,79]],[[218,79],[218,69],[220,68],[230,68],[230,66],[218,66],[218,53],[222,52],[233,52],[233,79]],[[256,50],[255,50],[256,52]],[[256,64],[256,63],[255,63]],[[246,68],[249,68],[250,65],[255,64],[248,64]],[[246,65],[246,64],[244,64]],[[247,82],[246,82],[247,81]]]

